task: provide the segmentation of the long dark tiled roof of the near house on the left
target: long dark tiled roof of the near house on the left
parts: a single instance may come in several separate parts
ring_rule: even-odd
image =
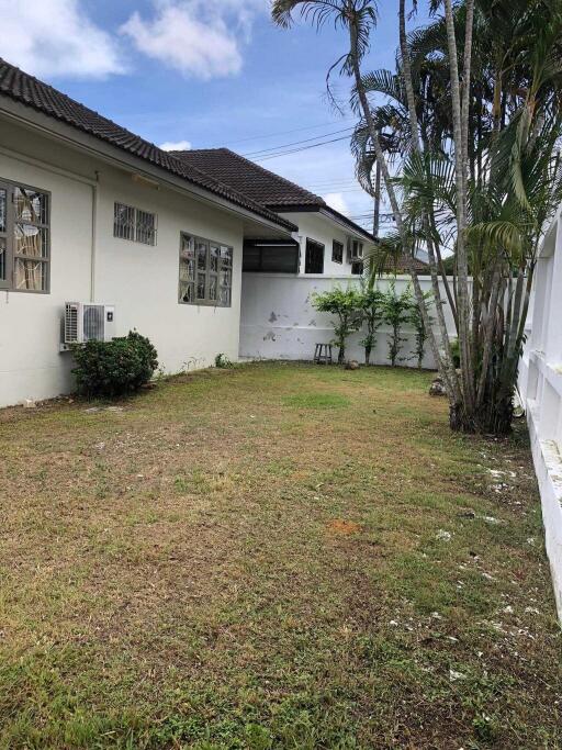
[[[190,165],[161,150],[153,143],[121,127],[1,58],[0,94],[121,148],[288,231],[294,232],[297,228],[291,222],[278,216],[263,203],[256,202],[250,195],[238,192],[234,186],[225,184],[216,177],[204,173],[195,165]]]

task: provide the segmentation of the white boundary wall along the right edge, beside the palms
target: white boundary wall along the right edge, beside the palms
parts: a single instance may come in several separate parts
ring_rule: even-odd
[[[539,481],[547,553],[562,619],[562,217],[540,250],[519,363],[519,392],[527,410]]]

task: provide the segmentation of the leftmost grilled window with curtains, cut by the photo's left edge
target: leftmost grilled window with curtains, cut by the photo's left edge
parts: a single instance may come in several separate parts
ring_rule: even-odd
[[[49,195],[0,181],[0,289],[48,292]]]

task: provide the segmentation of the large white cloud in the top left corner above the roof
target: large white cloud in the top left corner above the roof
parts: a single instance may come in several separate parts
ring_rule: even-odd
[[[1,56],[38,77],[103,78],[124,72],[112,37],[79,0],[0,0]]]

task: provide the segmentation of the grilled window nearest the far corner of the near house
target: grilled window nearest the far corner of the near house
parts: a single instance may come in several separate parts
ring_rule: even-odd
[[[179,301],[183,304],[229,307],[233,248],[182,233]]]

